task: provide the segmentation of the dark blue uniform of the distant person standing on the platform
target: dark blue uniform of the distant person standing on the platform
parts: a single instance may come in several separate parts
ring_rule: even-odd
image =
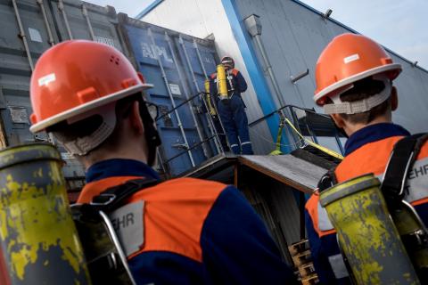
[[[217,101],[218,113],[225,127],[230,148],[235,154],[253,154],[248,118],[241,98],[241,93],[247,90],[247,83],[237,69],[228,69],[226,77],[229,100],[227,102]],[[217,73],[213,73],[210,77],[210,94],[218,94]]]

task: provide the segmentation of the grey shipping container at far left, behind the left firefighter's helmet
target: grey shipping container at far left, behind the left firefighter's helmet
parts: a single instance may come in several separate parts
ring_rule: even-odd
[[[45,133],[29,132],[29,80],[37,59],[49,47],[70,38],[95,40],[123,52],[116,12],[81,1],[0,1],[0,115],[2,148],[49,141]],[[52,140],[51,140],[52,141]],[[84,183],[77,159],[58,146],[69,189]]]

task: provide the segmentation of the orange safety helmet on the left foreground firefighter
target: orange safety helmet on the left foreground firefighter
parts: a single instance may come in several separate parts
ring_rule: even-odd
[[[54,45],[37,61],[31,77],[34,113],[29,129],[36,133],[64,120],[151,88],[128,59],[110,45],[71,40]]]

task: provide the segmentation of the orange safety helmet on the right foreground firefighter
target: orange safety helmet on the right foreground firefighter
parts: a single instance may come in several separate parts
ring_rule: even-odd
[[[358,80],[374,76],[391,81],[400,72],[401,65],[393,63],[383,47],[372,39],[362,35],[342,34],[334,37],[318,58],[314,101],[324,106],[326,97],[337,98],[350,90]]]

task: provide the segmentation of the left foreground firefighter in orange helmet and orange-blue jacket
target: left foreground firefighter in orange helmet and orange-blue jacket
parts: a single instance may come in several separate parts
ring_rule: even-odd
[[[156,182],[126,200],[133,219],[116,223],[128,235],[122,247],[136,283],[284,284],[292,274],[235,187],[159,181],[150,167],[161,142],[153,124],[157,108],[143,96],[151,86],[111,46],[55,45],[31,78],[30,130],[52,132],[85,165],[79,203],[136,178]]]

